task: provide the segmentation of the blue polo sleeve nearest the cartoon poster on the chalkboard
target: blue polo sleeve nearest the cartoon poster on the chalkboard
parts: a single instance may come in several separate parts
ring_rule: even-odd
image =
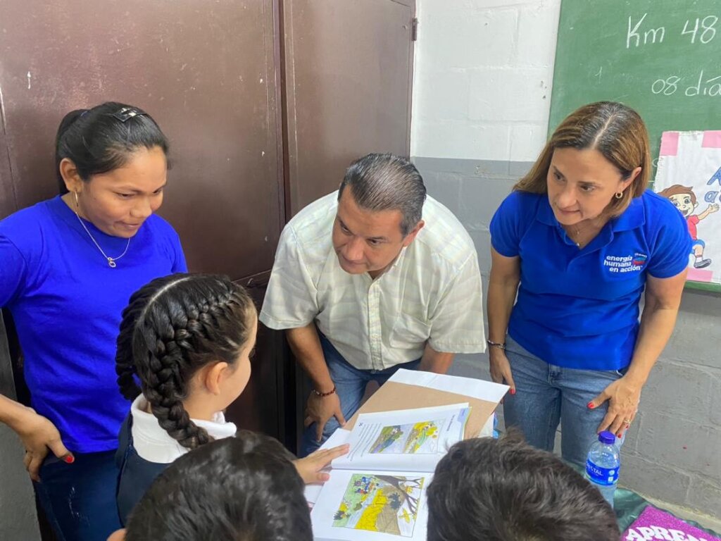
[[[676,207],[668,202],[661,214],[658,218],[661,225],[646,270],[654,278],[671,278],[689,265],[692,241],[686,219]]]

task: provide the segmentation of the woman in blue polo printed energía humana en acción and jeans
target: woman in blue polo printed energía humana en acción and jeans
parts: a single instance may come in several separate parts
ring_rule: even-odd
[[[629,428],[676,323],[691,238],[646,190],[650,170],[640,116],[585,105],[490,224],[490,370],[510,385],[506,426],[552,450],[560,421],[562,455],[579,465],[597,431]]]

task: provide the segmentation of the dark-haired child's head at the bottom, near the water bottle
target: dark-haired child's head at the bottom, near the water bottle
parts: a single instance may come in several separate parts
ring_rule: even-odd
[[[617,541],[588,480],[517,434],[455,444],[428,487],[428,541]]]

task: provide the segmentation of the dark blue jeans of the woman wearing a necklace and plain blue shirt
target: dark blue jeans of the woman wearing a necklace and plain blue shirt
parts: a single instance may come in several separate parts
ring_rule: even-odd
[[[52,453],[40,466],[35,492],[58,541],[106,541],[120,528],[115,451],[74,453],[66,464]]]

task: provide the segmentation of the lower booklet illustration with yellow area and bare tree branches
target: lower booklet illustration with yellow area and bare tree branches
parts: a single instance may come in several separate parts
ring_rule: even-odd
[[[425,478],[354,474],[333,526],[412,537]]]

